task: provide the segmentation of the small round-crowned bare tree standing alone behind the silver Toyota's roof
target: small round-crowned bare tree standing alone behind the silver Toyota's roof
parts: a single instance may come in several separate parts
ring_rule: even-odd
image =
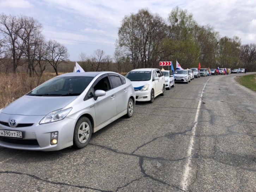
[[[66,62],[69,57],[68,49],[65,45],[60,44],[55,40],[50,40],[46,43],[47,54],[44,59],[53,66],[56,75],[58,75],[57,67],[61,62]]]

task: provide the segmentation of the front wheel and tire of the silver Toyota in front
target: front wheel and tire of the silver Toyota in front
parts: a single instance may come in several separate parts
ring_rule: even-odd
[[[87,136],[87,137],[86,137]],[[81,117],[75,124],[74,136],[73,136],[73,148],[82,149],[91,140],[92,136],[92,124],[87,117]],[[84,138],[86,140],[84,140]]]

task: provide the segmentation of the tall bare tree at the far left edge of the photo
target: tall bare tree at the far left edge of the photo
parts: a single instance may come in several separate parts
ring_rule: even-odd
[[[13,59],[13,73],[16,74],[17,67],[21,65],[20,59],[24,52],[24,42],[21,42],[19,36],[20,31],[24,27],[24,21],[21,17],[7,16],[6,14],[0,14],[0,32],[6,39],[6,45],[10,47],[12,51]]]

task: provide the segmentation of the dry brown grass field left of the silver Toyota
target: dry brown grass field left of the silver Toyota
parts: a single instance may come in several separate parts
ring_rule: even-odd
[[[17,76],[0,73],[0,109],[54,77],[54,73],[44,73],[42,77],[34,76],[32,78],[25,73],[17,74]]]

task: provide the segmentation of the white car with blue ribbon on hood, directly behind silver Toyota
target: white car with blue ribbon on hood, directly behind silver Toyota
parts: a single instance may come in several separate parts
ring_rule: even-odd
[[[160,69],[134,69],[126,78],[132,82],[136,101],[153,103],[155,97],[165,94],[165,76]]]

